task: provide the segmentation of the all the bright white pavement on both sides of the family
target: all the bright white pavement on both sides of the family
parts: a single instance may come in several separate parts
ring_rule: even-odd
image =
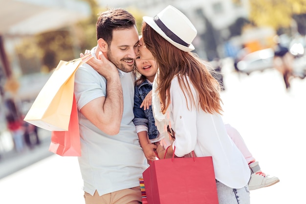
[[[306,79],[286,92],[275,70],[225,70],[224,120],[236,127],[262,170],[280,183],[251,191],[252,204],[304,203]],[[75,157],[52,155],[0,180],[0,204],[84,204]]]

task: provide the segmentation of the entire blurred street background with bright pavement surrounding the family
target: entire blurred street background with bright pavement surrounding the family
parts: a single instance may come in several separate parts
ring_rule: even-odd
[[[240,131],[262,171],[280,179],[278,184],[251,191],[251,203],[305,203],[304,2],[0,3],[0,204],[85,204],[77,158],[49,152],[50,132],[20,119],[60,60],[78,58],[80,52],[95,46],[97,13],[106,7],[127,8],[140,29],[142,16],[154,16],[169,4],[185,13],[197,28],[195,52],[217,71],[216,78],[224,86],[224,121]]]

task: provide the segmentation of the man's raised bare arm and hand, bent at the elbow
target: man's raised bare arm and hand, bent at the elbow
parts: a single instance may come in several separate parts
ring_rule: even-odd
[[[85,51],[85,54],[88,52],[90,51]],[[105,58],[102,52],[99,52],[98,59],[91,55],[84,57],[82,53],[80,56],[83,62],[87,61],[87,64],[107,80],[107,96],[98,97],[88,102],[80,111],[103,132],[116,135],[120,131],[123,115],[123,92],[118,70],[113,63]]]

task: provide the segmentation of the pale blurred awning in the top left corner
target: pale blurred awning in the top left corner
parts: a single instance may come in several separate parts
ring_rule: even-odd
[[[80,0],[0,0],[0,34],[33,35],[86,18],[89,6]]]

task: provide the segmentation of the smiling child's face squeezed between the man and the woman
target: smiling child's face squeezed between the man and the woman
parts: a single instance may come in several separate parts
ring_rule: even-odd
[[[137,71],[145,76],[150,82],[153,82],[157,72],[156,62],[154,60],[142,60],[138,54],[135,59]]]

